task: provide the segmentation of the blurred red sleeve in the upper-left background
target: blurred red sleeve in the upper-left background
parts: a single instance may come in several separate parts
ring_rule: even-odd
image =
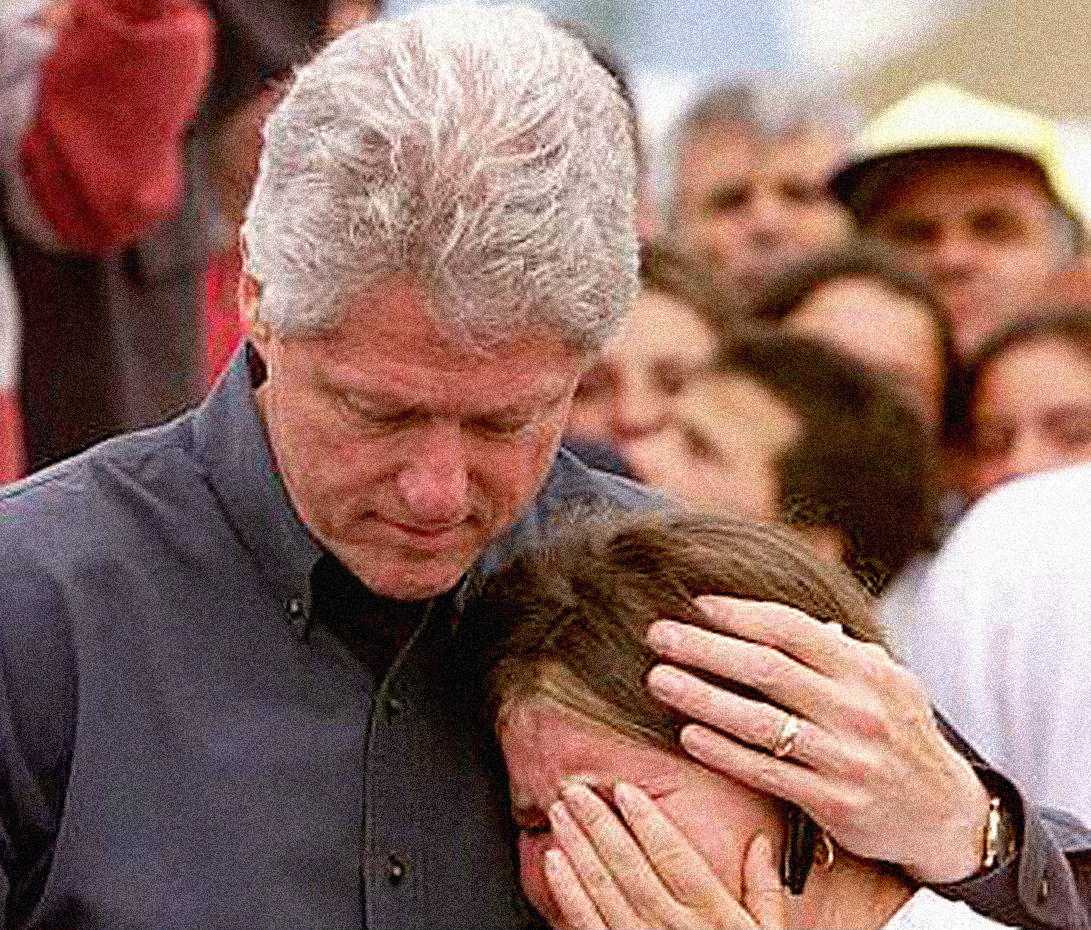
[[[211,21],[189,0],[75,0],[20,150],[27,191],[63,248],[118,251],[172,215],[211,60]]]

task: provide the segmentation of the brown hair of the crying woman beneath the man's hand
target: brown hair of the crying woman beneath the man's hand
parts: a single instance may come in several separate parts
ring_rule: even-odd
[[[523,552],[471,603],[463,622],[491,642],[487,719],[495,726],[513,702],[540,698],[681,752],[684,720],[644,684],[657,660],[645,634],[664,617],[707,625],[693,606],[706,594],[784,604],[880,639],[866,592],[786,527],[699,514],[582,521]]]

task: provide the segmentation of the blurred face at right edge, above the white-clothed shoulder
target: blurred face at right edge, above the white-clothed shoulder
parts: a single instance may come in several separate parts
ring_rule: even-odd
[[[981,373],[971,418],[972,498],[1091,462],[1091,346],[1050,336],[1002,351]]]

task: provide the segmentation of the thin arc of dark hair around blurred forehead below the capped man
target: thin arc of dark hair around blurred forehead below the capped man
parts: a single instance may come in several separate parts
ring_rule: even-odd
[[[754,310],[755,319],[776,325],[800,309],[812,295],[839,281],[863,278],[923,307],[932,319],[936,351],[943,365],[943,415],[950,416],[952,392],[962,377],[950,314],[935,291],[919,276],[900,270],[877,246],[855,242],[803,261],[769,284]]]

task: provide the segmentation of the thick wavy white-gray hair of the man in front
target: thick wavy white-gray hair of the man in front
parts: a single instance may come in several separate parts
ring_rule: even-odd
[[[281,336],[408,273],[436,323],[599,348],[637,282],[632,115],[586,47],[521,7],[358,26],[265,124],[245,270]]]

